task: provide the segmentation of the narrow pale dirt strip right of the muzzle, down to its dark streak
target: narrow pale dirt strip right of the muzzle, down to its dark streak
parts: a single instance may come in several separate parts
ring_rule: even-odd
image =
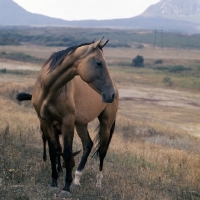
[[[200,109],[200,94],[160,88],[119,89],[121,101]]]

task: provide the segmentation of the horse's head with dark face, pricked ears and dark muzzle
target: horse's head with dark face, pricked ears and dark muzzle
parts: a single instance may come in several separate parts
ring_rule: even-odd
[[[108,40],[101,41],[77,49],[82,53],[77,69],[82,80],[101,95],[103,102],[112,103],[116,91],[102,51]]]

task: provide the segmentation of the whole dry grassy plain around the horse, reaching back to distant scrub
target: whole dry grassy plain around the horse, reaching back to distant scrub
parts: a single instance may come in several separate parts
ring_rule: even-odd
[[[200,199],[200,52],[143,45],[104,50],[120,91],[116,131],[105,159],[102,189],[95,187],[99,161],[90,157],[81,186],[72,187],[71,199]],[[1,51],[40,59],[60,49],[1,46]],[[136,55],[144,57],[144,68],[130,66]],[[157,59],[163,63],[155,64]],[[191,69],[165,70],[176,65]],[[0,72],[0,199],[55,199],[49,192],[50,162],[42,161],[37,116],[29,102],[15,100],[18,92],[31,92],[39,65],[2,58],[1,69],[6,72]],[[90,124],[92,138],[97,125]],[[80,148],[75,135],[73,149]],[[79,160],[80,156],[77,164]],[[61,174],[60,188],[63,183]]]

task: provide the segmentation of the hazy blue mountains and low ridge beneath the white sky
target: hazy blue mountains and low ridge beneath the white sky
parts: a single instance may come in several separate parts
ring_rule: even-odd
[[[120,28],[120,29],[150,29],[162,28],[165,31],[196,33],[200,25],[196,23],[199,7],[196,7],[199,0],[192,0],[190,14],[193,13],[192,8],[196,9],[191,19],[186,20],[188,13],[184,17],[177,18],[175,13],[176,8],[182,5],[181,2],[186,0],[162,0],[160,3],[150,6],[142,15],[114,20],[81,20],[81,21],[66,21],[57,18],[51,18],[40,14],[34,14],[26,11],[21,6],[12,0],[0,0],[0,25],[3,26],[68,26],[68,27],[91,27],[91,28]],[[195,4],[196,2],[196,4]],[[180,3],[180,4],[179,4]],[[185,4],[183,4],[185,5]],[[199,4],[198,4],[199,5]],[[171,9],[171,7],[173,9]],[[187,10],[187,5],[184,6]],[[179,13],[182,13],[180,11]],[[162,14],[164,12],[164,14]],[[172,17],[174,16],[174,17]],[[177,20],[179,19],[179,20]]]

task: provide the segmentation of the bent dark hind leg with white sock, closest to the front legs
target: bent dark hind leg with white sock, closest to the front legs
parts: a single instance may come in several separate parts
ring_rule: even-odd
[[[79,137],[81,138],[81,141],[83,144],[83,155],[81,158],[81,162],[75,172],[75,179],[74,179],[74,184],[80,185],[80,178],[82,175],[82,171],[87,162],[87,158],[91,152],[93,142],[88,133],[87,124],[76,124],[76,130],[77,130],[77,133],[78,133]]]

